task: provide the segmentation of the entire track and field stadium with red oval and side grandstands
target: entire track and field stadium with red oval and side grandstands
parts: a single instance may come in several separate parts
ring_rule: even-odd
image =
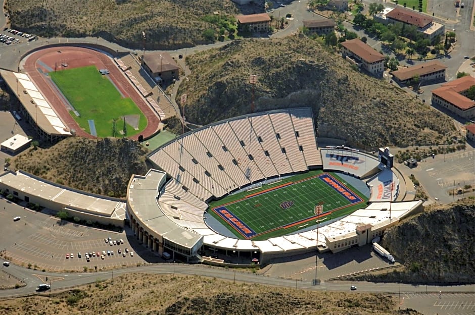
[[[0,74],[18,96],[23,116],[52,142],[71,135],[148,138],[174,115],[164,113],[171,102],[151,78],[140,76],[140,64],[129,53],[55,45],[26,55],[22,67],[21,73]]]

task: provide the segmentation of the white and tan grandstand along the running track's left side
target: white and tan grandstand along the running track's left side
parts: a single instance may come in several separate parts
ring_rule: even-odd
[[[46,134],[54,136],[71,135],[48,100],[28,75],[7,70],[0,70],[0,75],[10,86],[10,89],[17,92],[17,97],[25,110]]]

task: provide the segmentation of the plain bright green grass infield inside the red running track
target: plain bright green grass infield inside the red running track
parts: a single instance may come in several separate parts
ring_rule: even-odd
[[[138,134],[147,126],[147,118],[135,103],[128,97],[123,98],[96,66],[50,72],[49,76],[80,114],[77,117],[70,112],[87,133],[90,133],[88,120],[94,120],[98,137],[110,137],[113,135],[113,120],[117,119],[116,137],[122,137],[119,133],[124,128],[122,117],[127,115],[134,115],[131,120],[138,121],[138,130],[126,124],[127,136]]]

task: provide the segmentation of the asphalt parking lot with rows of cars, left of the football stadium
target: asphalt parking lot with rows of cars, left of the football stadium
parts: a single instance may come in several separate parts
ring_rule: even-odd
[[[17,216],[21,219],[13,221]],[[8,260],[20,266],[31,264],[37,270],[82,272],[84,268],[96,270],[97,267],[99,271],[160,260],[138,244],[130,229],[117,233],[81,226],[29,211],[4,199],[0,200],[0,220],[0,230],[8,235],[0,240],[0,248],[7,252]],[[109,244],[109,237],[115,245]],[[94,255],[87,259],[86,253]]]

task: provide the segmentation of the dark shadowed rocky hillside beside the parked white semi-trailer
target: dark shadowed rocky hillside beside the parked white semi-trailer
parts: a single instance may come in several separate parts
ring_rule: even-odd
[[[404,270],[355,279],[475,283],[475,200],[426,209],[389,229],[383,246],[404,263]]]

